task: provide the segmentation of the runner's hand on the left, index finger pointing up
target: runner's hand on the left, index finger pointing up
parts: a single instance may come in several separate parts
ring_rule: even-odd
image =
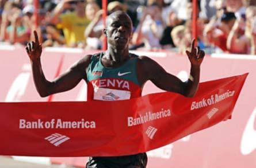
[[[34,35],[35,35],[35,42],[30,41],[26,45],[26,53],[28,53],[28,56],[32,61],[40,58],[42,53],[42,45],[39,43],[39,39],[36,31],[34,31]]]

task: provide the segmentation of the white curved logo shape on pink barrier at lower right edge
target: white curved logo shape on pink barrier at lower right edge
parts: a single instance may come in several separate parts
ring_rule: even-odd
[[[240,150],[243,155],[248,155],[256,149],[256,130],[254,130],[254,122],[256,118],[256,107],[251,114],[246,127],[243,131],[243,136],[240,144]]]

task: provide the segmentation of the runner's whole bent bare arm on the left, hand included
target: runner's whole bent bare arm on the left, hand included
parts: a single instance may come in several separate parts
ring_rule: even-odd
[[[31,41],[26,46],[26,52],[30,58],[32,65],[33,79],[36,85],[37,92],[41,97],[45,97],[54,93],[68,91],[74,88],[79,81],[86,77],[86,67],[90,61],[90,55],[83,57],[76,62],[67,72],[60,75],[54,81],[45,79],[43,69],[41,67],[42,46],[39,43],[37,32],[35,34],[35,42]]]

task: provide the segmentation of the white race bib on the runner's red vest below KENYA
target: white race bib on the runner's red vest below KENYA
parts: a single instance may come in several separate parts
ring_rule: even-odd
[[[116,100],[129,100],[131,97],[130,91],[121,91],[117,89],[109,88],[97,88],[94,89],[94,100],[103,101],[116,101]]]

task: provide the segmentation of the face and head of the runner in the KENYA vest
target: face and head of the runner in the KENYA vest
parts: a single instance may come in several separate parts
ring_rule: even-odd
[[[108,38],[108,44],[120,49],[128,48],[132,34],[131,19],[125,13],[110,16],[105,34]]]

